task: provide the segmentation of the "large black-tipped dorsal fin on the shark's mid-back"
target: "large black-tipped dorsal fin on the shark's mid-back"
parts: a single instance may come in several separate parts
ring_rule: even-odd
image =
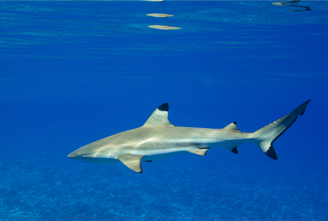
[[[170,123],[167,116],[169,114],[169,104],[165,103],[159,106],[153,114],[148,118],[143,127],[175,127]]]

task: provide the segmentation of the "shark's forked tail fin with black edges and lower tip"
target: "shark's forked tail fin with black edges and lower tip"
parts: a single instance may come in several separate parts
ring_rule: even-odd
[[[303,115],[307,104],[311,100],[298,106],[293,112],[286,116],[276,120],[275,122],[255,131],[252,137],[258,141],[255,144],[261,148],[261,150],[274,160],[277,160],[277,154],[273,149],[273,142],[275,142],[281,134],[283,134],[292,124],[296,121],[298,115]]]

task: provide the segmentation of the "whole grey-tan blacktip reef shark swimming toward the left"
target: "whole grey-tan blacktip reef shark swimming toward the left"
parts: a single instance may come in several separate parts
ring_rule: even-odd
[[[225,147],[238,153],[237,147],[246,142],[255,143],[266,155],[277,160],[273,142],[303,115],[307,104],[254,133],[241,132],[233,122],[223,129],[176,127],[168,120],[168,103],[159,106],[146,123],[139,128],[124,131],[95,141],[68,155],[86,163],[122,162],[131,170],[142,173],[141,161],[168,158],[184,153],[205,156],[213,147]]]

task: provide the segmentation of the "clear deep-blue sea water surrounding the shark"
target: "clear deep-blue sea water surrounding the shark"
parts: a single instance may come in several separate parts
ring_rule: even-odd
[[[328,220],[328,2],[272,2],[0,1],[0,220]],[[175,126],[254,132],[309,99],[277,161],[67,157],[166,102]]]

